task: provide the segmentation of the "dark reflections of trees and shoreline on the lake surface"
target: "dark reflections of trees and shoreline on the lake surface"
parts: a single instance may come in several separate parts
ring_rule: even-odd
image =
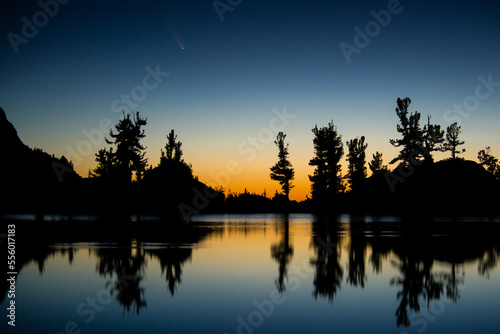
[[[294,245],[290,238],[288,217],[279,220],[278,224],[281,224],[278,226],[283,233],[280,241],[271,245],[271,257],[278,263],[278,277],[274,283],[278,291],[284,293]],[[498,234],[488,230],[475,234],[470,229],[465,233],[434,233],[427,230],[415,232],[415,228],[408,232],[400,227],[397,231],[384,230],[386,227],[315,220],[311,226],[310,242],[314,256],[309,261],[314,272],[314,298],[324,298],[333,303],[342,283],[359,288],[368,286],[367,261],[376,274],[382,273],[384,263],[392,263],[398,272],[388,281],[397,288],[396,323],[408,327],[412,325],[415,315],[425,311],[425,308],[429,309],[433,301],[459,302],[466,283],[464,264],[477,263],[478,273],[489,278],[499,262]],[[148,233],[137,239],[127,237],[115,243],[97,243],[98,247],[89,248],[89,253],[96,256],[96,273],[109,279],[105,287],[123,312],[140,314],[147,307],[143,285],[148,257],[150,261],[158,260],[161,275],[165,275],[167,291],[174,296],[182,283],[183,265],[193,257],[191,247],[209,233],[218,233],[223,238],[225,228],[228,227],[221,224],[207,229],[196,226],[181,232]],[[258,230],[258,227],[255,229]],[[396,236],[395,231],[398,233]],[[71,265],[76,258],[76,248],[71,242],[59,242],[65,240],[64,236],[60,240],[56,237],[50,242],[36,239],[30,247],[21,241],[16,252],[18,272],[34,263],[40,275],[44,275],[47,259],[57,254],[66,257]],[[345,267],[340,264],[342,249],[347,251]],[[1,287],[5,299],[8,285],[4,282]]]

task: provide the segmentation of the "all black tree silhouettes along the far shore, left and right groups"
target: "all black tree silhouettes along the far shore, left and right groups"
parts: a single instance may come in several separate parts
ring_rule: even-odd
[[[412,162],[432,163],[433,152],[450,152],[450,159],[463,159],[460,157],[465,152],[461,148],[465,142],[460,140],[461,126],[456,122],[441,129],[439,124],[431,122],[431,115],[427,116],[426,123],[420,124],[421,114],[418,111],[409,112],[411,99],[397,99],[396,115],[399,123],[396,130],[398,138],[390,139],[394,147],[399,148],[398,155],[389,164],[399,163],[398,166],[407,168]],[[114,145],[109,149],[103,148],[96,153],[97,166],[89,172],[91,178],[108,180],[113,183],[141,182],[143,179],[160,174],[182,174],[193,178],[192,166],[182,159],[182,142],[177,140],[174,129],[167,134],[165,151],[161,150],[161,158],[157,167],[147,168],[147,159],[141,140],[145,137],[143,127],[147,119],[142,118],[139,112],[123,114],[123,119],[109,132],[108,144]],[[383,163],[383,155],[377,151],[371,161],[366,162],[365,136],[349,139],[345,142],[338,132],[333,120],[327,126],[312,129],[313,157],[309,165],[314,167],[314,172],[309,175],[311,181],[312,199],[331,199],[339,193],[356,192],[367,179],[367,167],[372,175],[380,176],[389,172]],[[271,180],[277,181],[282,194],[289,200],[295,171],[289,159],[289,144],[286,134],[279,132],[274,142],[278,148],[278,161],[270,167]],[[346,157],[347,172],[342,174],[341,160]],[[490,147],[478,152],[478,160],[487,171],[500,179],[500,164],[498,159],[491,154]],[[222,188],[219,191],[223,192]]]

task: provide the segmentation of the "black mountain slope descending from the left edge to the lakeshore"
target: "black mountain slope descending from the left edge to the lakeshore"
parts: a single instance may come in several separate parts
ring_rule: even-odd
[[[190,167],[180,162],[148,169],[141,182],[82,178],[64,156],[57,158],[25,145],[2,108],[0,136],[5,198],[0,214],[29,213],[38,218],[92,214],[115,221],[128,220],[132,214],[188,218],[212,210],[223,200],[222,194],[198,181]]]

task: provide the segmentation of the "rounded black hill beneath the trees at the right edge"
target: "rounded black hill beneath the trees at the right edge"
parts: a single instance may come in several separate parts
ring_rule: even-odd
[[[407,174],[405,174],[405,172]],[[390,185],[392,183],[392,186]],[[413,171],[372,176],[361,194],[345,199],[349,211],[429,216],[500,214],[500,182],[480,164],[462,159],[424,163]]]

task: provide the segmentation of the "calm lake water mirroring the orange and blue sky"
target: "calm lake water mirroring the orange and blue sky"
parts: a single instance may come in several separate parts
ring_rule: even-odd
[[[19,255],[15,330],[5,295],[0,330],[500,332],[497,230],[337,220],[199,216],[176,237],[38,245]]]

